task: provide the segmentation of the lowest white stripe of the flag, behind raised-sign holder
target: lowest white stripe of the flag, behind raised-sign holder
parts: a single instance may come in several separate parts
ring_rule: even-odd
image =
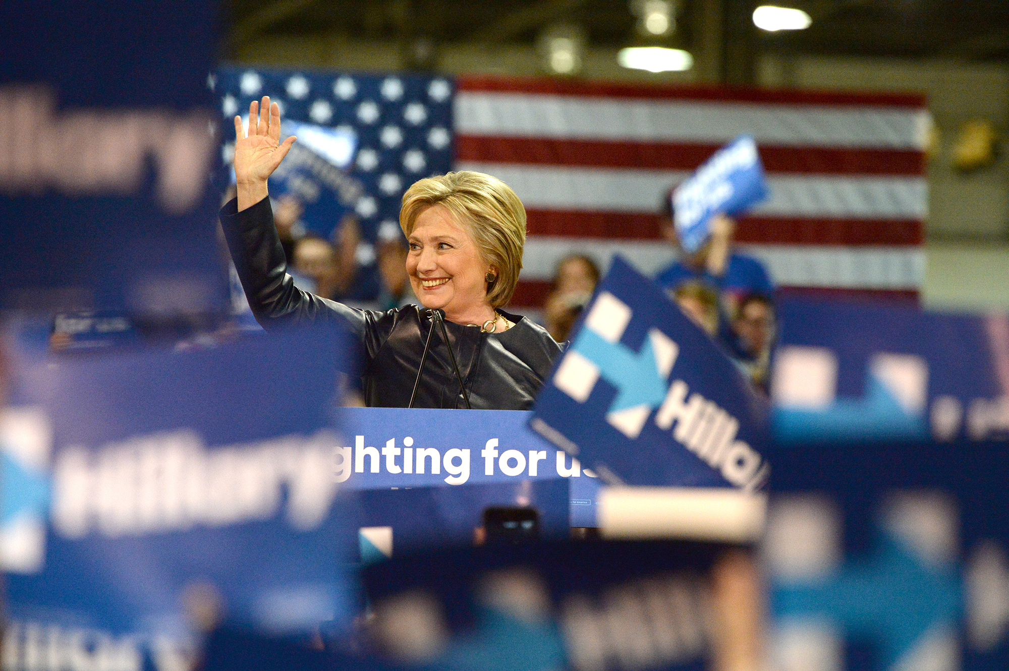
[[[847,289],[919,289],[925,253],[914,247],[821,247],[814,245],[741,245],[767,266],[777,285]],[[550,280],[557,261],[585,254],[603,269],[614,254],[639,272],[654,277],[675,254],[662,242],[529,236],[523,256],[523,280]]]

